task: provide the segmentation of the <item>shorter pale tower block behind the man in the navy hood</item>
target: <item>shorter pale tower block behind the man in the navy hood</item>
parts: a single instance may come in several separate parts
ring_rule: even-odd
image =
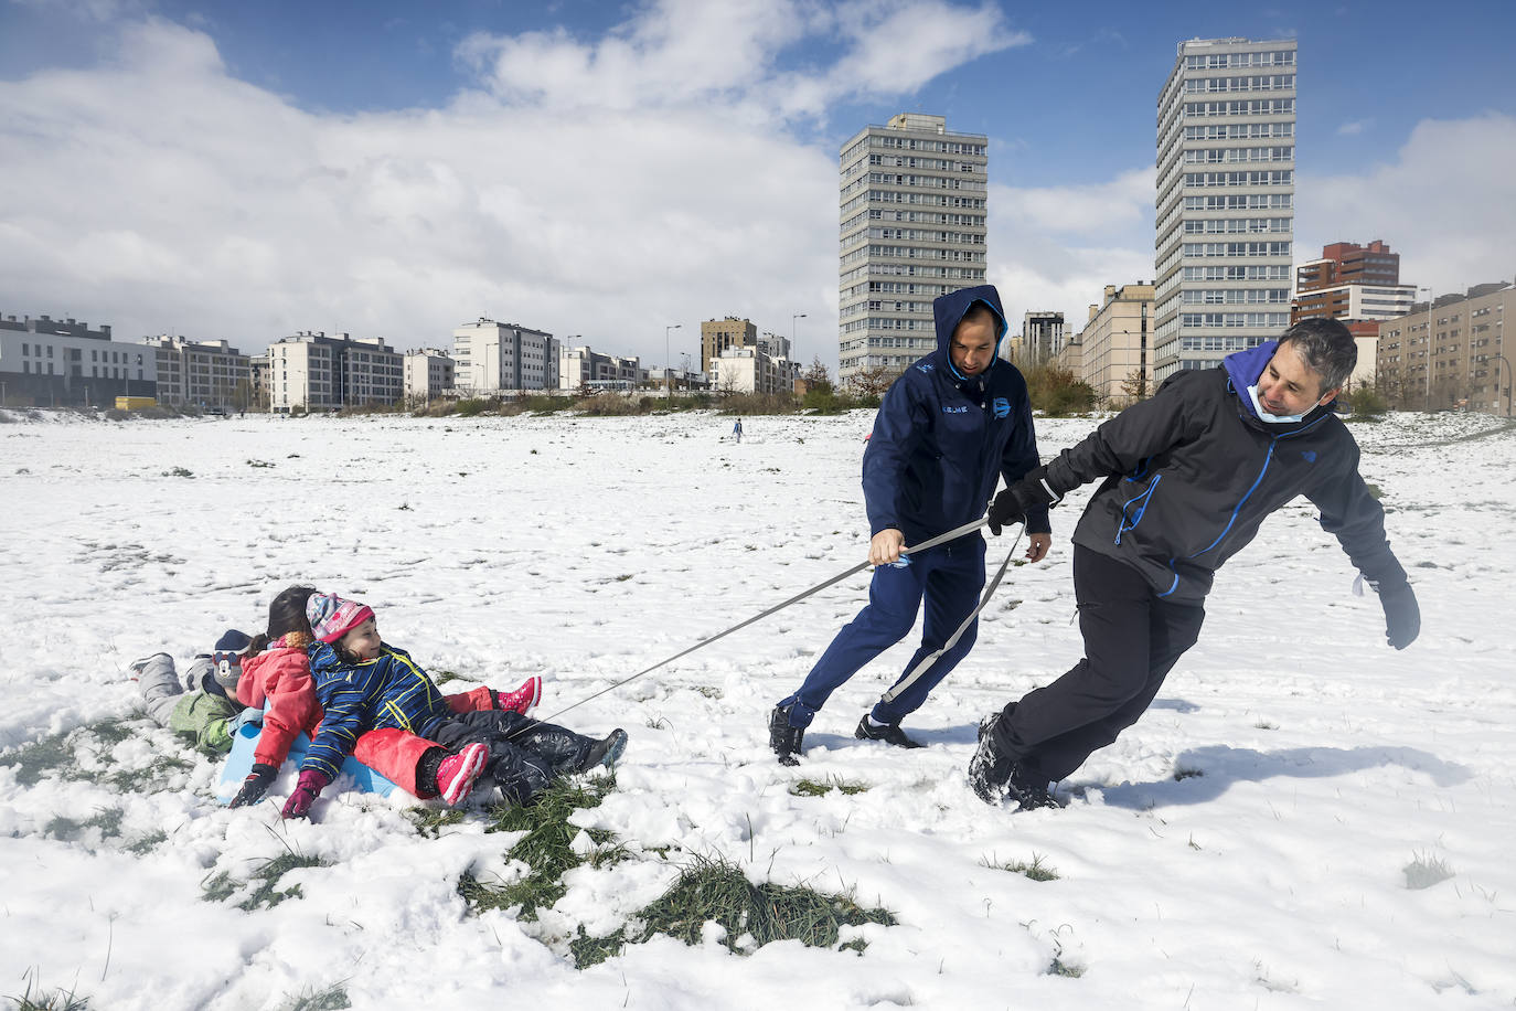
[[[932,300],[984,283],[988,138],[902,112],[840,153],[837,377],[937,349]]]

